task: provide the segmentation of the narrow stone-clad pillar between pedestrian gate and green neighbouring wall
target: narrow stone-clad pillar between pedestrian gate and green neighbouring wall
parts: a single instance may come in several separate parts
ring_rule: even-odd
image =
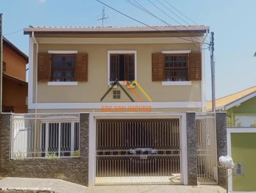
[[[217,158],[227,155],[227,115],[216,112]],[[226,188],[226,169],[218,169],[218,183]]]

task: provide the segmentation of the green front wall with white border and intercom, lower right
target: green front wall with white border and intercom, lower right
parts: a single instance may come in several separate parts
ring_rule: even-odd
[[[228,155],[238,164],[230,170],[228,189],[230,192],[255,192],[256,173],[255,127],[227,128]]]

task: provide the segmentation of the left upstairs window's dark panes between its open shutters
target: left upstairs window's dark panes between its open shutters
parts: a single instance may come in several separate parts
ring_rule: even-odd
[[[72,82],[75,81],[75,54],[52,54],[51,56],[51,81]]]

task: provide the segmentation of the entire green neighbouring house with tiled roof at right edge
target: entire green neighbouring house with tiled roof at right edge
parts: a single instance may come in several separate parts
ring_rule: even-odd
[[[212,102],[206,109],[211,111]],[[216,111],[227,112],[227,148],[237,169],[230,169],[230,192],[256,192],[256,86],[216,100]]]

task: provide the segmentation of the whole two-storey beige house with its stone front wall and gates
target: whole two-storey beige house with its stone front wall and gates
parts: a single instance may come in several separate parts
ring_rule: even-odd
[[[209,27],[31,26],[24,33],[29,113],[3,115],[1,176],[225,184],[217,157],[227,146],[216,145],[226,141],[217,137],[225,114],[202,112]]]

